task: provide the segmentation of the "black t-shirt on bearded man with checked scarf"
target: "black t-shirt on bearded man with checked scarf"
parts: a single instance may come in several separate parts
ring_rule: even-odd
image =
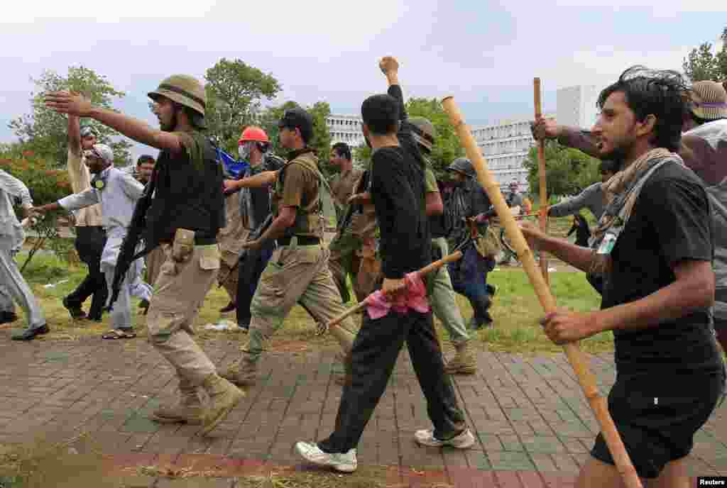
[[[687,168],[667,163],[648,179],[613,251],[602,309],[644,298],[673,282],[672,266],[712,260],[707,193]],[[619,375],[721,370],[706,310],[641,330],[614,330]]]

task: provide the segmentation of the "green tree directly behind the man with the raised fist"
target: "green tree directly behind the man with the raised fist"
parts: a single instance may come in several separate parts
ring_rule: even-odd
[[[437,135],[430,160],[437,178],[448,179],[449,175],[445,168],[454,159],[464,156],[465,150],[459,144],[459,138],[454,126],[449,122],[449,117],[444,113],[442,102],[435,98],[411,98],[406,102],[406,113],[409,117],[424,117],[431,121]],[[356,159],[360,161],[368,161],[371,156],[371,149],[365,144],[356,147],[354,151]]]

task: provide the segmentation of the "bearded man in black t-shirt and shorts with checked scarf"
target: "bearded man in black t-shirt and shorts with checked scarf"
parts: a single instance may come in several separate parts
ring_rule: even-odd
[[[686,110],[678,73],[631,68],[601,92],[593,127],[600,158],[622,161],[604,184],[608,204],[593,248],[523,224],[529,240],[603,277],[598,312],[542,321],[555,343],[612,330],[616,383],[608,411],[649,486],[687,487],[685,458],[720,397],[724,366],[709,307],[715,296],[707,194],[676,154]],[[577,487],[621,486],[599,434]]]

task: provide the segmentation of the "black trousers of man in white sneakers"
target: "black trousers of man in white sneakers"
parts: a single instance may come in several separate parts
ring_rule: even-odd
[[[348,452],[356,447],[374,408],[386,389],[403,343],[417,373],[419,386],[427,399],[427,413],[437,439],[449,439],[465,429],[465,415],[459,410],[444,361],[432,314],[389,312],[364,322],[351,351],[351,378],[343,387],[336,417],[336,429],[318,442],[324,452]]]

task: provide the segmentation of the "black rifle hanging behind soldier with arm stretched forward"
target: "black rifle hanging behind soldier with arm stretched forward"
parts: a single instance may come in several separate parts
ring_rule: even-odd
[[[113,282],[111,282],[111,299],[108,301],[107,310],[113,309],[113,304],[119,299],[119,293],[121,293],[121,285],[126,279],[126,273],[129,272],[129,267],[132,263],[144,256],[145,254],[153,251],[149,248],[151,243],[146,242],[145,248],[142,251],[137,252],[137,245],[142,240],[144,229],[146,229],[146,212],[151,206],[152,195],[156,188],[156,166],[151,174],[149,182],[144,188],[144,192],[141,198],[137,200],[134,206],[134,214],[132,214],[132,221],[129,224],[129,230],[124,236],[124,240],[121,241],[121,251],[119,251],[119,258],[116,259],[116,269],[113,273]]]

